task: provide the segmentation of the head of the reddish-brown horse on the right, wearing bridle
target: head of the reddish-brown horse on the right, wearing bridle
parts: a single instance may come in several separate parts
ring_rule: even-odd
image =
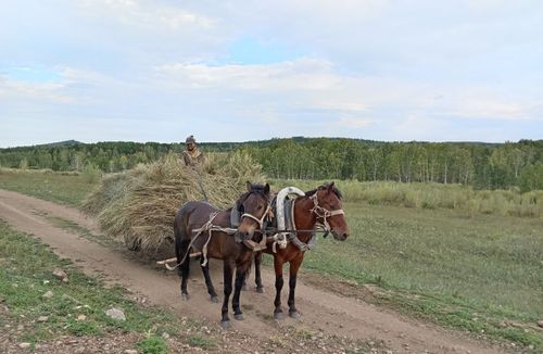
[[[331,231],[336,240],[344,241],[349,237],[349,226],[341,203],[341,191],[331,182],[307,194],[313,200],[312,212],[317,217],[317,223]]]

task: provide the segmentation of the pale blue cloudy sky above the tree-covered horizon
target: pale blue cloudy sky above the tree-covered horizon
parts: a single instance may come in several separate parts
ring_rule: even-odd
[[[0,0],[0,148],[543,139],[543,2]]]

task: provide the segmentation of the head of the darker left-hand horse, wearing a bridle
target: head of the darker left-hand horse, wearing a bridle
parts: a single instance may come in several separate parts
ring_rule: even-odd
[[[272,216],[269,185],[253,185],[248,181],[247,189],[238,201],[238,212],[241,214],[238,232],[244,240],[252,239],[254,231],[263,229],[266,218]]]

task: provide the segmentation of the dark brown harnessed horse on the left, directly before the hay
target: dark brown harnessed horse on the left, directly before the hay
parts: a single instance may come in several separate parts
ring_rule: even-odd
[[[217,294],[210,277],[207,257],[223,260],[224,293],[222,325],[229,327],[228,300],[232,291],[232,273],[236,268],[236,285],[232,308],[236,319],[243,319],[239,298],[244,275],[251,265],[253,251],[245,244],[253,238],[262,238],[256,229],[262,228],[264,219],[270,214],[269,185],[252,185],[248,182],[248,191],[236,203],[242,214],[237,235],[230,227],[231,208],[219,211],[206,202],[188,202],[177,212],[174,222],[175,250],[177,269],[181,277],[181,298],[188,300],[187,280],[189,276],[190,250],[202,252],[201,266],[213,302],[218,302]]]

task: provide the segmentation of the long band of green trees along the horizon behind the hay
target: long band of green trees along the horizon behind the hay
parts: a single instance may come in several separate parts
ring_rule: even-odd
[[[337,138],[201,143],[203,151],[242,150],[273,178],[394,180],[470,185],[478,189],[543,189],[543,140],[506,143],[379,142]],[[155,161],[179,143],[66,142],[0,149],[0,166],[103,172]]]

